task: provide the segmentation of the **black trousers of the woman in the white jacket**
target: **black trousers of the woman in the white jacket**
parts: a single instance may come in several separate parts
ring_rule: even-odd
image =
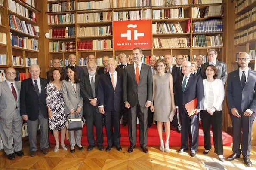
[[[203,131],[204,131],[204,148],[210,150],[211,134],[210,127],[213,127],[213,142],[215,153],[223,155],[223,142],[222,142],[222,111],[215,111],[213,115],[210,115],[206,110],[200,112]]]

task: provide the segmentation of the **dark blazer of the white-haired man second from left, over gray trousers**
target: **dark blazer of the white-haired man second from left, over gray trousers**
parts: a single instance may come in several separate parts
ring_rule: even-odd
[[[48,110],[46,107],[46,85],[47,79],[40,78],[41,93],[37,96],[34,91],[34,84],[31,78],[25,79],[21,84],[20,92],[20,112],[21,115],[28,115],[31,121],[37,120],[39,108],[44,118],[48,118]]]

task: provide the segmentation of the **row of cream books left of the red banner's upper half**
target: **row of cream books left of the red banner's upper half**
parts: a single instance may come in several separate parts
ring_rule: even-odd
[[[99,27],[78,27],[78,37],[86,36],[110,36],[112,35],[112,25]]]

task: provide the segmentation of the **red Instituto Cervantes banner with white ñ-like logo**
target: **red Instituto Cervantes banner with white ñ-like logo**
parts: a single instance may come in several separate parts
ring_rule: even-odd
[[[152,49],[152,21],[114,21],[114,50]]]

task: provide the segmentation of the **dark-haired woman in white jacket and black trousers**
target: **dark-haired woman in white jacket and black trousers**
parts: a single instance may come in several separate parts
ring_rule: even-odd
[[[204,154],[208,154],[211,145],[210,127],[213,129],[213,142],[215,153],[219,156],[220,161],[223,158],[223,142],[222,142],[222,102],[224,100],[224,83],[221,79],[217,79],[218,71],[213,65],[206,67],[206,79],[204,83],[204,109],[201,110],[200,116],[204,131]]]

